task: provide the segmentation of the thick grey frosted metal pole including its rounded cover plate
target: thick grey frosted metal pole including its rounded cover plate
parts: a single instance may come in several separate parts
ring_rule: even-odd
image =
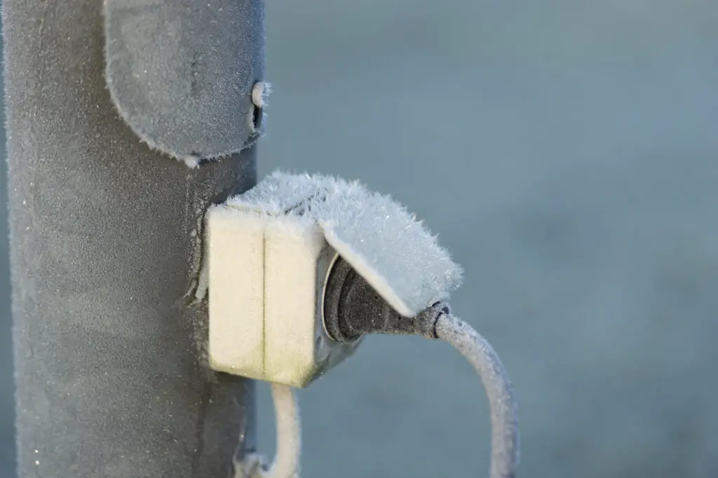
[[[227,478],[253,388],[187,296],[256,182],[263,2],[3,4],[19,475]]]

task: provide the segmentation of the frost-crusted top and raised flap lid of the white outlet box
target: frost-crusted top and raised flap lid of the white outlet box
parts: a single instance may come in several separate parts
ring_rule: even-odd
[[[327,243],[406,317],[460,286],[462,268],[437,237],[403,205],[359,182],[275,172],[228,205],[311,218]]]

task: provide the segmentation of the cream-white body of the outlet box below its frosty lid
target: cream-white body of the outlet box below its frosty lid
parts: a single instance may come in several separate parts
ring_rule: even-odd
[[[358,345],[325,331],[324,287],[337,253],[297,207],[302,202],[285,210],[229,202],[208,210],[214,370],[303,388]]]

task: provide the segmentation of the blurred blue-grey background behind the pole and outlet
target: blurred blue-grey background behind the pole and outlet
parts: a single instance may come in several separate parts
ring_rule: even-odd
[[[718,477],[718,2],[267,8],[261,175],[363,179],[439,233],[466,268],[454,309],[516,383],[522,475]],[[0,231],[9,478],[4,216]],[[304,476],[485,474],[486,403],[468,365],[421,339],[362,349],[300,395]],[[259,402],[271,452],[264,387]]]

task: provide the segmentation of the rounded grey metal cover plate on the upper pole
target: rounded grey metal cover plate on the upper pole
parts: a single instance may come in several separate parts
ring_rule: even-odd
[[[237,153],[259,136],[256,0],[105,0],[106,80],[132,130],[178,159]]]

